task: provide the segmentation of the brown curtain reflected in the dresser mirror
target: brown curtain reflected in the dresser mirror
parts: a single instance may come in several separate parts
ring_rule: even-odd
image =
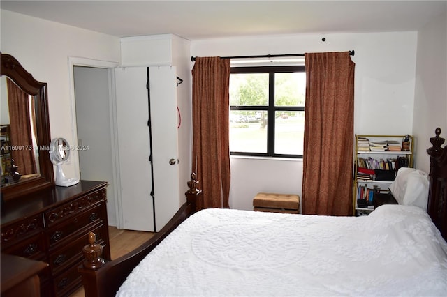
[[[31,121],[34,112],[29,112],[29,105],[33,104],[32,96],[20,89],[19,86],[6,79],[8,89],[8,106],[10,119],[10,144],[14,148],[11,156],[14,164],[18,167],[17,172],[22,175],[34,174],[36,169],[36,158],[34,158],[34,145],[32,141]],[[33,105],[34,106],[34,105]]]

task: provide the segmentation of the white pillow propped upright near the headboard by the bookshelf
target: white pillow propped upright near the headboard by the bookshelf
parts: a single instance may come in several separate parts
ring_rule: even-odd
[[[418,206],[427,211],[428,176],[425,172],[402,167],[390,185],[391,194],[402,205]]]

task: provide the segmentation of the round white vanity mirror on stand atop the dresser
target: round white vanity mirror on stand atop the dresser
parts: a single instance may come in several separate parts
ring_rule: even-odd
[[[54,138],[50,144],[50,160],[56,165],[56,180],[54,183],[61,187],[69,187],[79,183],[77,178],[66,178],[62,171],[62,164],[68,161],[70,157],[70,146],[64,138]]]

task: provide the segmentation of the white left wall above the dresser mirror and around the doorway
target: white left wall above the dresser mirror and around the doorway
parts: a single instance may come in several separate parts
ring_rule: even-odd
[[[69,75],[68,57],[118,63],[119,38],[6,10],[0,13],[1,52],[15,56],[35,79],[47,83],[51,137],[64,137],[75,144],[70,98],[73,74]],[[78,175],[75,172],[77,163],[78,160],[71,158],[71,162],[64,165],[66,176]],[[110,197],[108,201],[108,220],[113,225],[115,201]]]

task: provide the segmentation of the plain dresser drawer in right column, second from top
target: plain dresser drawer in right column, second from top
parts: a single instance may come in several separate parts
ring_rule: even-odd
[[[105,218],[105,215],[107,215],[107,213],[105,213],[105,205],[99,204],[66,220],[64,224],[54,225],[54,227],[45,232],[48,246],[52,248],[54,244],[62,241],[67,236],[91,226],[92,224],[101,222],[103,218]]]

